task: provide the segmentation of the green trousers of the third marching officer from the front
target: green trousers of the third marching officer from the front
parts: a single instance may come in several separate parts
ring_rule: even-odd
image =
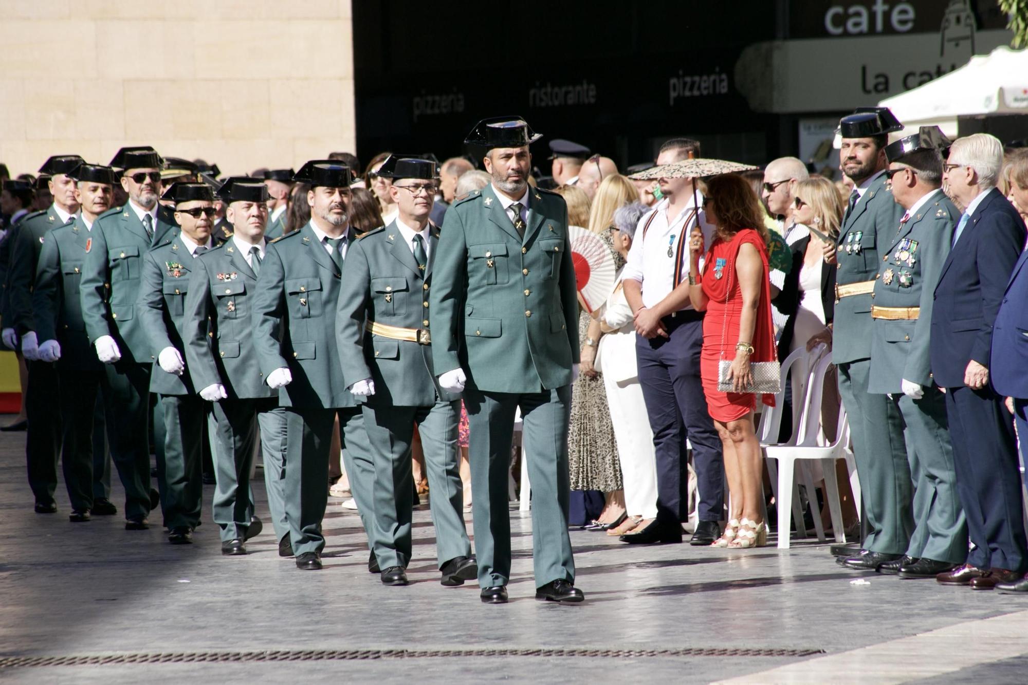
[[[286,518],[289,520],[293,552],[321,552],[325,548],[322,519],[328,505],[328,457],[332,426],[339,417],[350,490],[357,501],[365,531],[371,530],[371,488],[374,465],[364,430],[361,407],[322,409],[289,406],[286,409],[286,471],[283,486]]]

